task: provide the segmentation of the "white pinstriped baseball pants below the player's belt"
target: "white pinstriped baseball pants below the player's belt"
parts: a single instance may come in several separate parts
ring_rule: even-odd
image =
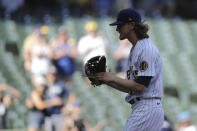
[[[164,112],[160,100],[142,100],[132,105],[124,131],[160,131]]]

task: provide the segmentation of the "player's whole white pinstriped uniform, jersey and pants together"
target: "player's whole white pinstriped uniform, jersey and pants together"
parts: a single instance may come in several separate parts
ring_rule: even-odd
[[[139,40],[128,58],[127,79],[135,80],[139,76],[152,76],[152,79],[143,93],[130,92],[125,98],[127,102],[136,97],[162,98],[162,60],[157,47],[149,39]],[[132,113],[124,131],[160,131],[163,121],[161,100],[141,100],[132,104]]]

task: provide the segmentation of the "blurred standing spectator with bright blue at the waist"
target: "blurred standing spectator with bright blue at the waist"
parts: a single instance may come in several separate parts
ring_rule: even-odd
[[[75,40],[68,38],[68,30],[66,27],[60,27],[57,38],[53,38],[50,44],[57,75],[61,79],[65,79],[67,85],[70,87],[72,75],[77,69],[75,61],[77,58],[77,47]]]

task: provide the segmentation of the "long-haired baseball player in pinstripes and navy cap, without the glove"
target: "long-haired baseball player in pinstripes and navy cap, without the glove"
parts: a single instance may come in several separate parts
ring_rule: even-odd
[[[125,100],[132,105],[132,113],[124,131],[160,131],[164,121],[162,60],[147,34],[148,25],[131,8],[121,10],[117,21],[110,25],[117,26],[120,40],[128,39],[132,44],[127,79],[119,78],[112,72],[97,73],[95,77],[112,88],[128,93]]]

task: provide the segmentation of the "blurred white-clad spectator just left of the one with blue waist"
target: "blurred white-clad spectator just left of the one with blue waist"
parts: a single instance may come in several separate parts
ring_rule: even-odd
[[[42,26],[36,35],[36,43],[31,48],[31,73],[32,75],[45,75],[51,65],[51,50],[46,43],[46,26]]]

